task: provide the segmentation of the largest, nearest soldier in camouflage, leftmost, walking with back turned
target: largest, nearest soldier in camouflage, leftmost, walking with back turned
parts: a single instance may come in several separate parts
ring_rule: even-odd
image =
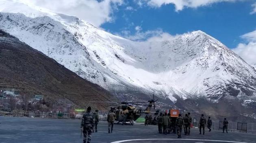
[[[91,113],[91,107],[89,106],[87,108],[87,112],[82,116],[82,122],[81,122],[81,131],[83,132],[84,134],[84,143],[86,143],[86,140],[87,140],[87,143],[90,143],[91,141],[91,133],[92,133],[92,130],[93,130],[93,127],[94,127],[94,116],[93,116],[93,113]]]

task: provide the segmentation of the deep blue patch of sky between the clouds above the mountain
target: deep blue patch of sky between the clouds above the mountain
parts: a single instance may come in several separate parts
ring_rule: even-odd
[[[241,35],[256,29],[256,14],[250,14],[254,2],[219,2],[176,12],[174,4],[140,7],[137,2],[130,0],[118,6],[118,10],[112,14],[112,22],[103,23],[101,27],[121,36],[122,31],[135,34],[136,26],[141,27],[141,32],[162,29],[171,35],[202,30],[229,48],[235,48],[239,43],[246,42]],[[127,7],[131,10],[127,10]]]

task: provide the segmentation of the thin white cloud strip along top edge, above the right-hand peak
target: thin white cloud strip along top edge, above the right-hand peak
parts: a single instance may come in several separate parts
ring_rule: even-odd
[[[207,6],[217,2],[235,2],[238,0],[138,0],[137,4],[147,3],[152,7],[161,7],[166,4],[174,4],[175,11],[181,11],[184,7],[197,8],[199,6]],[[242,0],[240,0],[242,1]]]

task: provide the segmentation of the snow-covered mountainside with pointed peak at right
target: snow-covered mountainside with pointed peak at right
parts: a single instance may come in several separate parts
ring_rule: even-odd
[[[74,16],[0,1],[0,28],[100,86],[177,98],[256,101],[256,70],[202,31],[161,42],[135,42]]]

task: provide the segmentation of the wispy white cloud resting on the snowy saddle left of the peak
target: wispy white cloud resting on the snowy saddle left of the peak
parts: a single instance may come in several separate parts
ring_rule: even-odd
[[[148,30],[143,32],[141,26],[135,27],[135,34],[131,34],[130,31],[124,30],[121,32],[122,37],[133,40],[133,41],[147,41],[147,42],[158,42],[171,40],[176,38],[178,35],[171,35],[169,33],[163,32],[162,29]]]

